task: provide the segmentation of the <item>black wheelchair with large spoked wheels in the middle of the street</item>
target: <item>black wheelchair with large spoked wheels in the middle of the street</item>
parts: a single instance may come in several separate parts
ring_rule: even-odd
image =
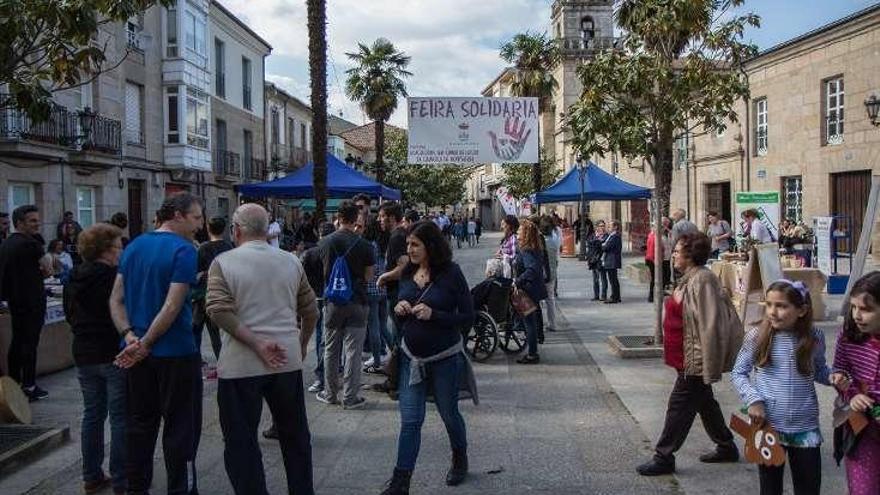
[[[525,348],[525,325],[510,304],[512,290],[509,280],[492,282],[485,304],[464,336],[465,348],[474,361],[489,359],[499,346],[508,353]]]

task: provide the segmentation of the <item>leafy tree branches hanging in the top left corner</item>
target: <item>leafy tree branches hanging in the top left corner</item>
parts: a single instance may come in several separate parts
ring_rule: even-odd
[[[108,62],[107,41],[97,41],[103,24],[125,21],[157,0],[0,0],[0,86],[15,106],[45,120],[52,93],[88,83],[119,65]],[[173,0],[158,0],[169,5]]]

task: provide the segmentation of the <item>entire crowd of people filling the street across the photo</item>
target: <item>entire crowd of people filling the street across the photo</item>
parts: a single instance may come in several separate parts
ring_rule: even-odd
[[[748,235],[760,241],[761,222],[752,213],[744,218]],[[4,371],[31,400],[47,396],[35,381],[43,284],[63,274],[83,396],[86,493],[107,486],[114,493],[148,493],[160,427],[168,493],[198,493],[205,329],[217,359],[224,462],[235,493],[267,493],[257,440],[264,401],[273,421],[262,435],[279,442],[288,491],[314,493],[306,392],[325,407],[361,409],[362,373],[383,375],[373,389],[398,401],[397,457],[382,495],[409,493],[429,401],[449,438],[445,482],[466,480],[467,425],[458,404],[462,397],[478,403],[479,396],[462,333],[473,325],[484,285],[468,287],[453,246],[462,232],[464,243],[472,230],[478,241],[480,231],[470,227],[477,219],[443,213],[420,219],[393,202],[374,212],[369,197],[357,196],[339,206],[333,221],[305,216],[292,228],[254,203],[239,206],[231,222],[206,221],[200,199],[188,193],[168,197],[156,213],[156,229],[131,241],[118,215],[86,229],[65,215],[57,242],[48,245],[35,206],[12,213],[11,235],[5,219],[0,214],[0,300],[12,317],[13,343]],[[843,418],[835,420],[835,457],[846,464],[850,493],[880,493],[880,272],[853,285],[829,365],[811,295],[800,282],[771,284],[762,323],[743,331],[706,267],[731,249],[733,232],[716,212],[707,220],[704,233],[686,212],[674,210],[661,220],[661,238],[648,236],[646,262],[652,275],[661,271],[668,288],[664,360],[677,376],[654,456],[638,473],[674,472],[675,454],[697,415],[716,444],[700,461],[739,459],[713,392],[729,373],[752,424],[778,431],[798,495],[821,487],[819,418],[831,405],[819,404],[815,383],[835,387],[835,418]],[[621,224],[584,224],[594,299],[619,303]],[[564,223],[552,215],[508,215],[501,226],[487,281],[507,281],[526,334],[517,362],[536,364],[544,331],[567,325],[556,301]],[[652,287],[649,299],[653,293]],[[309,373],[304,363],[313,336],[316,367]],[[308,387],[304,374],[314,374]],[[867,427],[856,431],[847,421],[853,414],[865,415]],[[108,417],[109,474],[102,467]],[[783,473],[784,466],[759,466],[761,493],[783,493]]]

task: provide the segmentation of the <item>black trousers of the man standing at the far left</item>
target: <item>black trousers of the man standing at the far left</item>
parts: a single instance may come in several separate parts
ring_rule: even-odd
[[[22,387],[32,387],[37,378],[37,347],[46,319],[46,308],[9,308],[12,318],[12,342],[9,344],[9,377]]]

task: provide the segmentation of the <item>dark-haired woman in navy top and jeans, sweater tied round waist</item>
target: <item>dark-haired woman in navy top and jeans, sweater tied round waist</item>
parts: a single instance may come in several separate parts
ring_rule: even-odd
[[[458,410],[460,387],[467,384],[477,401],[473,370],[460,330],[474,321],[467,280],[452,261],[452,249],[434,222],[412,226],[406,244],[410,261],[400,279],[399,302],[394,307],[403,334],[398,367],[400,437],[394,476],[382,495],[409,493],[429,392],[452,446],[452,467],[446,473],[446,484],[454,486],[464,481],[468,470],[467,432]]]

